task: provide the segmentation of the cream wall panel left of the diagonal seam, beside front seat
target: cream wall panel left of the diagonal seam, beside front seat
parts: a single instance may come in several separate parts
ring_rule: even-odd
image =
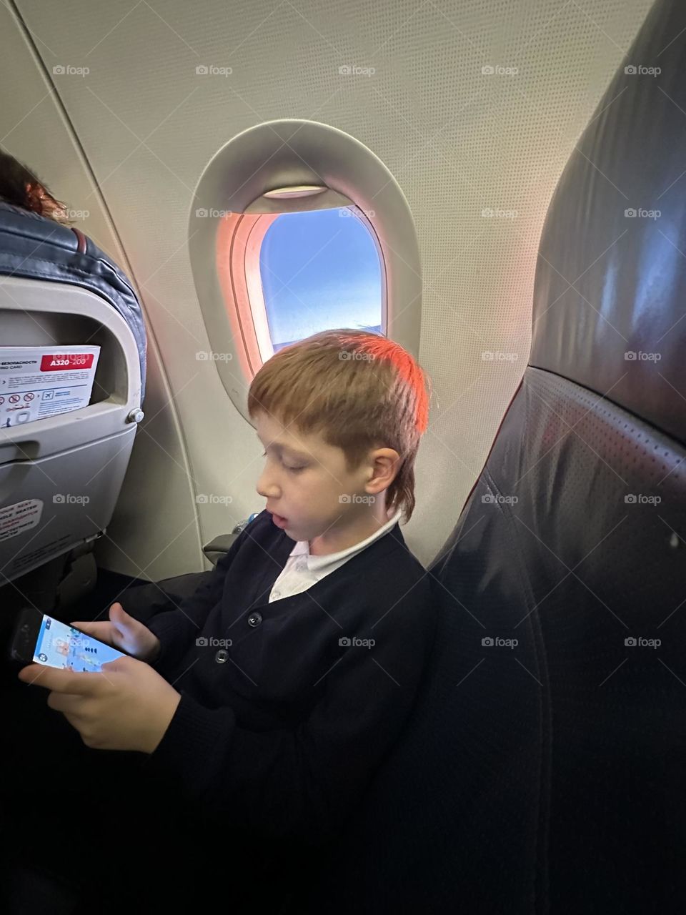
[[[24,29],[4,4],[0,4],[0,36],[0,145],[26,161],[72,209],[88,212],[76,224],[122,266],[135,286],[136,276],[64,116],[58,92],[47,81]],[[140,294],[140,286],[137,291]],[[113,522],[97,551],[106,567],[155,580],[173,575],[175,569],[198,568],[202,554],[177,410],[155,334],[149,321],[147,325],[145,420],[136,433]],[[0,342],[6,346],[13,341]],[[107,473],[108,468],[101,472]],[[169,530],[177,536],[160,533]]]

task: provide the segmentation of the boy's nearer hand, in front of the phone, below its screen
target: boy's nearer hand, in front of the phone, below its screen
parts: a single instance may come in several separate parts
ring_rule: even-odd
[[[28,664],[19,679],[51,690],[50,708],[62,712],[94,749],[152,753],[181,701],[172,685],[135,658],[102,664],[102,673]]]

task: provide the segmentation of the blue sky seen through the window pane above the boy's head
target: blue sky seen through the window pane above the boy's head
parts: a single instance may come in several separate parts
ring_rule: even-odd
[[[381,263],[345,210],[284,213],[264,235],[260,274],[274,352],[327,328],[381,333]]]

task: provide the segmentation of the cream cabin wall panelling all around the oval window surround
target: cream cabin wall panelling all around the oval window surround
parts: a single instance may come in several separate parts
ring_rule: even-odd
[[[284,117],[332,124],[369,146],[413,212],[423,263],[419,356],[434,394],[417,507],[403,530],[428,564],[528,358],[552,191],[650,5],[16,0],[44,70],[19,46],[16,27],[5,28],[3,145],[73,209],[91,211],[83,231],[132,275],[154,335],[148,418],[113,523],[118,546],[101,547],[104,565],[132,575],[139,566],[154,579],[197,569],[199,544],[263,508],[254,489],[262,448],[213,362],[196,359],[211,347],[188,261],[188,210],[222,145]],[[0,16],[9,26],[4,7]],[[231,73],[198,75],[203,64]],[[89,72],[53,74],[60,65]],[[341,74],[345,65],[374,72]],[[197,504],[198,495],[209,499]]]

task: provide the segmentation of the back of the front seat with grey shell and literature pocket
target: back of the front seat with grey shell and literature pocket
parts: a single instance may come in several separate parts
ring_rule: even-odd
[[[0,585],[53,608],[95,578],[92,544],[112,518],[143,418],[145,326],[126,277],[90,239],[0,203],[0,339],[100,347],[89,405],[0,428]]]

